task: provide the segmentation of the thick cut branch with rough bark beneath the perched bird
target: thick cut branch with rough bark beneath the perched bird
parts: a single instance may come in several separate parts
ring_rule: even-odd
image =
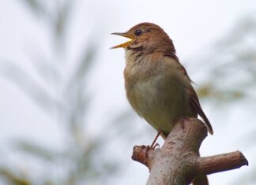
[[[147,185],[186,185],[196,176],[248,165],[239,151],[211,157],[198,156],[206,136],[207,129],[201,120],[183,120],[171,130],[160,149],[134,146],[132,158],[149,168]]]

